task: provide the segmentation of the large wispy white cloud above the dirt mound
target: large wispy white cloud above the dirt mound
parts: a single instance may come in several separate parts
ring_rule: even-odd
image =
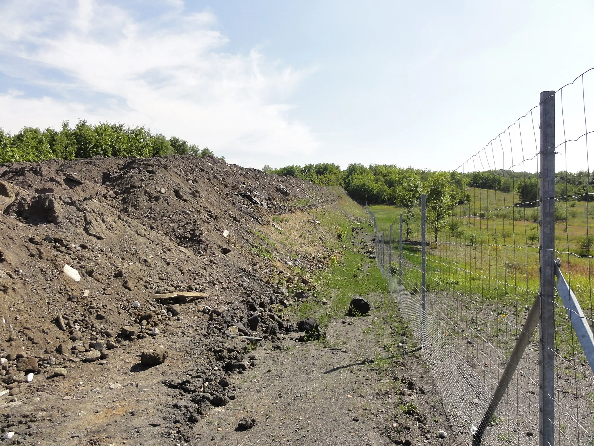
[[[144,124],[254,167],[318,146],[285,102],[308,71],[279,68],[257,49],[224,52],[228,39],[210,12],[184,14],[173,2],[138,21],[91,0],[39,5],[0,7],[0,73],[18,78],[0,93],[6,130],[78,118]]]

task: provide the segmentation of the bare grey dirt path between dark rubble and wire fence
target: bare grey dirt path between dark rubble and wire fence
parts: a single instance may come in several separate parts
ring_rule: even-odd
[[[368,317],[330,322],[324,343],[258,349],[255,367],[237,375],[236,400],[195,432],[216,445],[452,444],[438,438],[447,420],[421,359],[396,359],[393,332],[378,328],[385,328],[384,299],[371,296],[380,308]],[[255,418],[254,428],[236,428],[244,416]]]

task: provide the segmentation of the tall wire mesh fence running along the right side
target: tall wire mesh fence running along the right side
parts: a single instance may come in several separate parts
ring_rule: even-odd
[[[477,430],[489,445],[594,444],[594,374],[582,346],[592,334],[579,338],[575,326],[594,323],[593,90],[590,70],[544,92],[456,171],[425,181],[426,206],[404,209],[400,224],[370,212],[378,267],[418,342],[407,348],[422,347],[469,444],[473,433],[479,444]],[[561,143],[551,144],[555,134]],[[580,319],[553,290],[555,271]]]

